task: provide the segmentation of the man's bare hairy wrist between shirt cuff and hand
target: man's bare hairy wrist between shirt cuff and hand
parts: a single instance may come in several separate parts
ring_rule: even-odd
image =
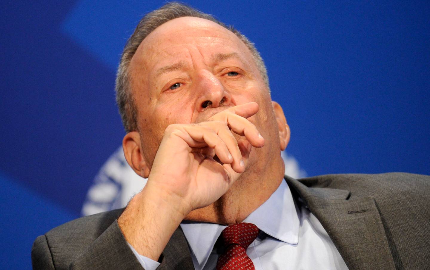
[[[175,196],[162,194],[148,184],[129,202],[118,225],[140,255],[157,261],[190,210]]]

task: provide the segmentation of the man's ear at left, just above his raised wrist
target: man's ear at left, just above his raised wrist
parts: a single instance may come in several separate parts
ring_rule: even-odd
[[[127,163],[132,167],[136,174],[143,178],[149,176],[149,168],[146,165],[141,150],[140,135],[136,131],[127,133],[123,138],[123,150]]]

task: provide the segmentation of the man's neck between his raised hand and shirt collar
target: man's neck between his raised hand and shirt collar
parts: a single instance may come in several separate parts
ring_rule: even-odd
[[[284,162],[278,152],[263,168],[249,166],[230,189],[207,207],[191,211],[186,220],[231,225],[242,222],[276,191],[284,176]]]

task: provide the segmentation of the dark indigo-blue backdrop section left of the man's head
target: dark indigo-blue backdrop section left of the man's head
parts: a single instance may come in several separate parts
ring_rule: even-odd
[[[1,169],[79,213],[92,177],[123,136],[115,71],[61,33],[70,6],[17,5],[0,8]]]

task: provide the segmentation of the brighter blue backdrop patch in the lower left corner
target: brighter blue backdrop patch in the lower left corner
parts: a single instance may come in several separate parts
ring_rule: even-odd
[[[37,236],[78,216],[0,172],[1,269],[31,269],[31,246]]]

